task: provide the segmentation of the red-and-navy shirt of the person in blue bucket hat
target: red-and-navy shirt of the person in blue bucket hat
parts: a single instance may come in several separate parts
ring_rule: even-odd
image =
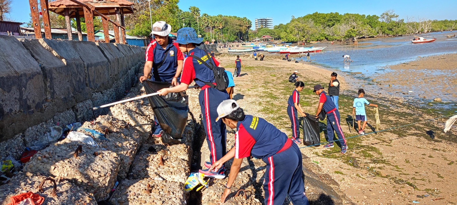
[[[191,50],[189,55],[195,55],[199,58],[202,58],[205,63],[211,65],[211,62],[214,65],[219,66],[219,62],[212,58],[209,53],[196,47]],[[209,58],[208,58],[209,57]],[[210,62],[211,61],[211,62]],[[200,86],[202,89],[206,89],[209,86],[204,82],[215,83],[213,70],[208,68],[206,65],[197,61],[197,59],[188,57],[184,61],[184,68],[182,69],[181,82],[185,84],[191,84],[195,79],[195,83]]]

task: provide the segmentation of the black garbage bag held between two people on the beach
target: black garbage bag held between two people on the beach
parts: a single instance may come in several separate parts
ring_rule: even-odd
[[[306,146],[315,145],[319,147],[319,120],[313,115],[306,113],[306,117],[301,117],[303,121],[303,144]]]

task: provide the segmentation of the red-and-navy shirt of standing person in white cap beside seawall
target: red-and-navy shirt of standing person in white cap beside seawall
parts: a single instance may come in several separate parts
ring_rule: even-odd
[[[167,51],[166,53],[165,50]],[[162,62],[164,55],[166,55],[165,61],[158,68],[157,65]],[[156,41],[151,42],[146,49],[146,61],[153,62],[151,72],[151,80],[153,81],[171,82],[178,68],[178,60],[184,60],[184,57],[178,48],[178,43],[172,42],[171,39],[168,40],[168,45],[165,49]],[[178,77],[179,80],[180,77]]]

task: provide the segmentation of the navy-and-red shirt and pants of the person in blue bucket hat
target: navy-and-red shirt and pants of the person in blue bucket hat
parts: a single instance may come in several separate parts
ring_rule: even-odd
[[[200,48],[194,48],[191,50],[189,55],[195,55],[202,58],[206,63],[210,64],[212,61],[216,66],[219,66],[219,62],[212,58],[210,54]],[[195,80],[195,83],[202,88],[198,95],[198,102],[202,110],[203,126],[206,131],[206,140],[208,142],[211,163],[222,158],[226,153],[226,130],[225,124],[222,121],[217,121],[218,117],[218,105],[228,100],[227,91],[219,91],[214,89],[204,82],[210,82],[216,84],[214,80],[213,71],[205,66],[204,64],[197,61],[195,58],[188,57],[184,61],[184,67],[181,75],[181,83],[191,84]]]

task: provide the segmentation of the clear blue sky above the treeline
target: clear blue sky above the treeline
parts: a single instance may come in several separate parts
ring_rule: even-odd
[[[283,5],[280,2],[283,2]],[[431,20],[457,19],[457,0],[180,0],[178,5],[183,11],[188,11],[190,6],[197,6],[201,13],[212,16],[222,14],[247,17],[253,22],[255,18],[272,17],[273,25],[288,23],[292,15],[299,17],[316,11],[320,13],[359,13],[379,16],[384,11],[393,9],[395,13],[400,15],[400,18],[404,19],[407,16],[419,16]],[[13,0],[12,12],[6,15],[14,21],[28,22],[30,20],[29,13],[28,0]]]

